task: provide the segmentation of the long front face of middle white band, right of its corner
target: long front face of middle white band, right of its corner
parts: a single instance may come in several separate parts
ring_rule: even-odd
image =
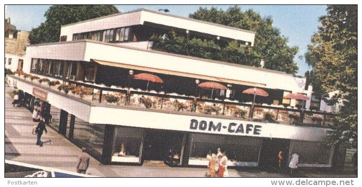
[[[185,58],[180,55],[152,53],[152,51],[140,51],[88,42],[85,60],[90,61],[91,59],[249,81],[266,84],[266,88],[283,89],[293,93],[306,93],[304,90],[305,78],[294,77],[282,72],[264,71],[228,63],[220,64],[197,58]]]

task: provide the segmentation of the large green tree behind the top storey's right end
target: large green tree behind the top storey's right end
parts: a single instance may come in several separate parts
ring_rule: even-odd
[[[216,8],[200,8],[190,18],[208,21],[255,31],[255,44],[245,49],[243,46],[229,43],[227,49],[243,53],[241,58],[246,65],[260,66],[260,59],[265,60],[265,68],[286,73],[297,73],[298,66],[294,62],[294,56],[298,53],[297,47],[287,46],[287,38],[280,35],[278,29],[272,27],[271,18],[261,18],[253,10],[242,12],[240,7],[230,7],[227,11]]]

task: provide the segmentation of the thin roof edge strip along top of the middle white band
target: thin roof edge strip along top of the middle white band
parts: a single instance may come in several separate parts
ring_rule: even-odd
[[[218,61],[218,60],[212,60],[212,59],[206,59],[206,58],[200,58],[200,57],[194,57],[194,56],[187,56],[187,55],[182,55],[182,54],[167,53],[167,52],[162,52],[162,51],[146,50],[146,49],[140,49],[140,48],[129,47],[129,46],[122,46],[122,45],[117,45],[117,44],[112,44],[112,43],[107,43],[107,42],[99,42],[99,41],[88,40],[88,39],[75,40],[75,41],[65,41],[65,42],[33,44],[33,45],[29,45],[29,47],[32,47],[32,46],[34,46],[34,47],[35,46],[45,46],[45,45],[57,45],[57,44],[64,44],[64,43],[81,43],[81,42],[90,42],[90,43],[108,45],[108,46],[113,46],[113,47],[118,47],[118,48],[125,48],[125,49],[131,49],[131,50],[137,50],[137,51],[143,51],[143,52],[149,52],[149,53],[158,53],[158,54],[164,54],[164,55],[170,55],[170,56],[178,56],[178,57],[182,57],[182,58],[206,61],[206,62],[217,63],[217,64],[222,64],[222,65],[231,65],[231,66],[240,67],[240,68],[246,68],[246,69],[259,70],[259,71],[264,71],[264,72],[269,72],[269,73],[282,74],[282,75],[285,75],[285,76],[300,77],[300,76],[296,76],[294,74],[287,74],[287,73],[282,72],[282,71],[270,70],[270,69],[265,69],[265,68],[260,68],[260,67],[241,65],[241,64],[235,64],[235,63],[230,63],[230,62],[225,62],[225,61]]]

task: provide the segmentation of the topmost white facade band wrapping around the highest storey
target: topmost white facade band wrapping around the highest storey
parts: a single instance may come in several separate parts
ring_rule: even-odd
[[[225,27],[213,23],[198,21],[180,16],[163,14],[151,10],[135,10],[121,14],[105,16],[104,18],[92,19],[72,25],[61,27],[60,36],[67,36],[67,41],[71,41],[74,33],[104,30],[118,27],[128,27],[134,25],[144,25],[145,22],[176,27],[185,30],[207,33],[220,37],[227,37],[236,40],[249,42],[254,45],[255,32],[241,30],[239,28]]]

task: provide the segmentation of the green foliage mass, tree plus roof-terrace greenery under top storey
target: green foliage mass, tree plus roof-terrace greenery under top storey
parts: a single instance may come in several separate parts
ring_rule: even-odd
[[[156,46],[156,48],[162,48],[162,50],[172,53],[177,52],[256,67],[260,66],[260,60],[263,58],[267,69],[286,73],[296,73],[298,70],[297,64],[293,61],[294,56],[298,53],[298,48],[287,46],[287,39],[280,35],[278,29],[272,27],[271,18],[261,18],[253,10],[242,12],[238,6],[231,7],[227,11],[200,8],[189,17],[255,31],[255,44],[253,47],[247,47],[236,41],[223,44],[220,40],[218,44],[215,40],[190,38],[186,41],[187,45],[182,46],[181,43],[187,38],[184,35],[178,36],[171,33],[166,37],[168,41],[163,41],[164,43],[161,44],[164,45]],[[172,40],[175,40],[175,45],[172,45]],[[187,48],[193,51],[190,52]]]

